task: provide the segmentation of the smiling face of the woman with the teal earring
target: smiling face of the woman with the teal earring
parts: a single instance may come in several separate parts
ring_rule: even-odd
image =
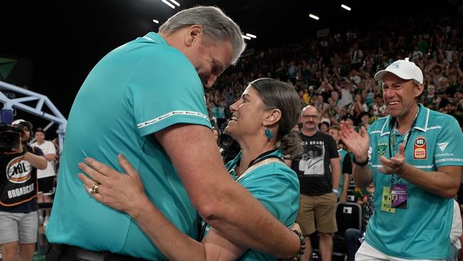
[[[231,120],[225,128],[225,133],[230,135],[236,141],[241,138],[252,135],[264,135],[263,121],[266,116],[264,103],[249,85],[244,90],[241,98],[230,106],[232,113]]]

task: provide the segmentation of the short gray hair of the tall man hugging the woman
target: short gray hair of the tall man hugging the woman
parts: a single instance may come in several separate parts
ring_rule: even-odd
[[[159,28],[160,33],[171,34],[186,26],[202,26],[204,34],[217,41],[230,41],[233,47],[231,64],[238,61],[246,48],[239,26],[224,12],[215,6],[196,6],[184,9],[170,17]]]

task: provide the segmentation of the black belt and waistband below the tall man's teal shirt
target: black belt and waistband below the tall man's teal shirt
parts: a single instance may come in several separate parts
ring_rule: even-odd
[[[48,250],[46,261],[58,260],[88,260],[88,261],[145,261],[129,255],[120,255],[108,251],[86,250],[73,245],[51,244]]]

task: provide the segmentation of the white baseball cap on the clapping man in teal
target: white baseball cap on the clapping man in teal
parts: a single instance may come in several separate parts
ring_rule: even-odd
[[[408,58],[405,60],[397,60],[391,63],[385,70],[378,71],[375,74],[375,80],[383,81],[383,77],[386,73],[393,73],[395,76],[402,78],[404,80],[415,80],[418,83],[423,83],[423,73],[420,67],[416,66],[415,63],[408,61]]]

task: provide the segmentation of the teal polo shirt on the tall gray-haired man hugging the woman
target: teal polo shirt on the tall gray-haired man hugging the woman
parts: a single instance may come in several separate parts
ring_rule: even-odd
[[[152,203],[180,231],[197,238],[198,215],[152,135],[177,123],[211,128],[202,82],[186,56],[150,33],[101,59],[71,108],[48,241],[165,259],[130,216],[98,203],[78,179],[77,164],[85,157],[123,172],[118,153],[140,173]]]

